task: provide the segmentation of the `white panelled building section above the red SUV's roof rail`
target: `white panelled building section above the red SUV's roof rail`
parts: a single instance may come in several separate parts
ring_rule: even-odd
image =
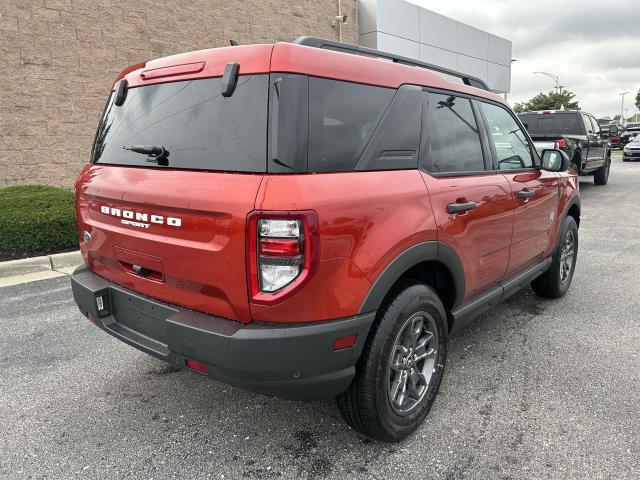
[[[360,0],[360,45],[511,89],[511,42],[404,0]]]

